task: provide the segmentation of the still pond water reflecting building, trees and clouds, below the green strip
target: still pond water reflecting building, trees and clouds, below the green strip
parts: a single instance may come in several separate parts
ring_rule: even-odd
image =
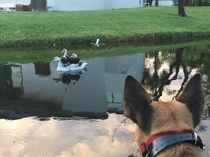
[[[210,156],[210,45],[85,59],[81,73],[57,63],[0,65],[0,157],[140,156],[134,124],[123,116],[127,75],[155,100],[172,100],[203,76],[206,108],[196,128]]]

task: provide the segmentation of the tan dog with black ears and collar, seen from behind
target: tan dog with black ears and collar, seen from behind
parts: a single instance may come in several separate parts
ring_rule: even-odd
[[[195,74],[175,100],[153,101],[132,76],[124,83],[124,115],[136,123],[143,157],[204,157],[195,133],[204,110],[201,75]]]

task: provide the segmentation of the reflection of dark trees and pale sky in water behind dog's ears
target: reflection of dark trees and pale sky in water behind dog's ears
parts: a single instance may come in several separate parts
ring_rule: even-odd
[[[150,92],[153,100],[160,100],[163,91],[176,98],[183,90],[184,84],[193,73],[199,72],[203,76],[203,87],[205,93],[204,119],[210,115],[210,86],[208,77],[210,71],[207,70],[210,63],[206,58],[210,57],[208,52],[195,47],[195,53],[186,48],[177,48],[175,52],[153,51],[147,54],[145,61],[145,71],[142,84]],[[200,66],[202,65],[202,66]],[[178,90],[169,89],[173,80],[182,80]]]

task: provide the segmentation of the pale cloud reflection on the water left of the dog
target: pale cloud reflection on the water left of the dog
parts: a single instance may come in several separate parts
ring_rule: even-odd
[[[133,125],[120,124],[123,119],[111,114],[106,120],[1,120],[1,156],[126,156],[137,148]]]

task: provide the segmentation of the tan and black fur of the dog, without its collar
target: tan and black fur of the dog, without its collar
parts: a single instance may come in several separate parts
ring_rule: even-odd
[[[192,131],[200,123],[204,109],[201,75],[194,75],[176,100],[153,101],[132,76],[124,85],[124,115],[136,123],[138,145],[152,135],[171,131]],[[204,152],[189,143],[178,143],[164,149],[157,157],[204,157]]]

